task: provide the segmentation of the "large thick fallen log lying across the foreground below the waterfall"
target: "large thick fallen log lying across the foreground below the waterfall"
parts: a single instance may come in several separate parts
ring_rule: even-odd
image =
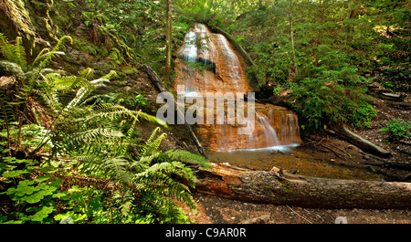
[[[411,208],[411,183],[318,178],[212,164],[200,170],[196,191],[274,205],[321,208]]]

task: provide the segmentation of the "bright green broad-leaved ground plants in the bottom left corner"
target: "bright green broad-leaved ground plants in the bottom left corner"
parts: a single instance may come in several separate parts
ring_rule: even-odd
[[[7,149],[0,146],[0,174],[2,184],[8,187],[0,195],[7,195],[13,209],[6,208],[5,223],[50,223],[50,214],[58,205],[54,198],[63,195],[58,191],[61,181],[50,174],[29,178],[30,174],[39,171],[37,161],[17,159],[6,155]]]

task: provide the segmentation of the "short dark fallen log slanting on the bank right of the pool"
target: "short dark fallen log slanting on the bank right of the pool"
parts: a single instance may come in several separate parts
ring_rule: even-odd
[[[386,151],[385,149],[375,145],[372,142],[365,140],[360,135],[351,132],[346,127],[339,125],[339,126],[332,126],[332,131],[342,139],[346,140],[347,142],[351,142],[356,145],[358,148],[362,149],[364,152],[373,153],[380,157],[389,157],[391,155],[390,152]]]

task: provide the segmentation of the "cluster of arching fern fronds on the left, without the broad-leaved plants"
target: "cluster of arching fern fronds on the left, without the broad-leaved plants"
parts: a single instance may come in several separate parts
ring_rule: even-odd
[[[94,201],[93,211],[87,208],[89,205],[75,198],[66,201],[69,206],[58,211],[75,221],[89,223],[188,222],[175,201],[182,201],[195,210],[190,188],[194,187],[196,178],[186,164],[206,167],[205,158],[182,151],[162,152],[160,144],[166,134],[161,133],[160,128],[156,128],[146,142],[140,142],[135,132],[139,121],[166,124],[141,110],[129,110],[115,102],[101,101],[104,97],[93,94],[95,89],[110,83],[116,75],[114,71],[95,79],[91,68],[82,70],[77,76],[61,75],[46,68],[53,56],[64,54],[58,51],[64,39],[70,38],[63,37],[52,50],[44,49],[28,65],[20,40],[17,38],[16,44],[12,45],[0,35],[0,48],[6,58],[0,62],[0,67],[7,68],[7,75],[18,79],[15,96],[22,100],[16,104],[6,100],[4,94],[0,96],[0,121],[4,127],[22,126],[24,119],[8,108],[12,104],[23,105],[25,108],[21,109],[31,110],[36,117],[46,115],[47,130],[43,129],[46,131],[41,132],[42,138],[36,140],[37,145],[31,150],[32,154],[39,151],[49,153],[47,161],[41,166],[62,174],[60,177],[76,174],[76,177],[115,184],[115,190],[111,192],[93,184],[79,190],[84,191],[83,196],[89,196],[87,199]],[[15,120],[20,122],[12,122]],[[11,139],[5,139],[10,150]],[[70,163],[61,162],[62,158]],[[75,184],[71,184],[74,185],[71,190],[79,189]],[[14,194],[7,192],[7,195]],[[33,209],[41,210],[40,201],[37,200]],[[68,209],[75,206],[80,207],[76,213]],[[47,209],[44,218],[53,211],[49,206]],[[62,220],[63,214],[55,215],[55,219]]]

